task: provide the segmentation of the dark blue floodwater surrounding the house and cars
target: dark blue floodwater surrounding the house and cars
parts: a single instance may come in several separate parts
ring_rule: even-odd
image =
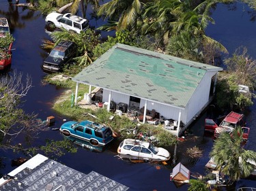
[[[237,4],[235,10],[228,10],[227,5],[218,5],[212,14],[216,24],[210,24],[207,33],[211,37],[214,37],[214,39],[221,41],[230,53],[238,48],[238,46],[244,45],[248,48],[251,56],[256,58],[256,24],[251,20],[251,15],[248,11],[248,7],[242,4]],[[55,114],[51,106],[63,89],[42,84],[42,78],[47,75],[41,68],[46,52],[40,48],[40,45],[42,44],[42,39],[49,38],[48,34],[44,31],[45,16],[41,15],[40,12],[31,12],[21,7],[10,6],[6,0],[0,0],[0,16],[8,18],[12,35],[16,39],[13,45],[15,50],[13,51],[12,57],[12,70],[22,71],[24,75],[31,75],[33,80],[33,88],[31,88],[25,98],[27,100],[24,105],[25,111],[38,114],[38,118],[42,120],[46,120],[48,116],[55,116],[55,127],[60,126],[63,123],[63,116]],[[90,18],[89,12],[87,18]],[[99,27],[102,22],[102,20],[90,20],[90,24],[96,27]],[[113,33],[111,34],[113,35]],[[108,34],[102,34],[102,36],[106,35]],[[254,128],[256,121],[253,118],[255,112],[256,108],[253,105],[251,112],[247,116],[247,124],[251,127],[251,134],[246,145],[246,149],[254,151],[256,151],[256,140],[253,139],[256,135]],[[190,140],[190,143],[181,142],[177,145],[177,158],[175,160],[175,164],[182,162],[193,173],[200,173],[202,175],[205,173],[204,166],[210,159],[208,155],[213,144],[211,137],[203,136],[203,121],[205,116],[206,114],[201,115],[197,123],[193,125],[192,131],[196,136]],[[40,139],[36,139],[33,144],[44,145],[46,138],[55,140],[63,139],[59,131],[46,131],[42,132]],[[22,141],[22,139],[16,139],[17,143],[19,141]],[[118,142],[113,141],[106,147],[104,152],[91,152],[90,150],[79,147],[76,154],[68,153],[59,158],[58,161],[83,173],[96,171],[130,187],[130,190],[182,191],[188,189],[187,185],[178,188],[173,182],[169,181],[169,174],[173,168],[173,158],[171,158],[167,165],[151,163],[134,164],[116,157],[117,145]],[[190,147],[194,145],[200,147],[203,150],[203,156],[201,158],[191,158],[184,154],[187,145],[190,145]],[[169,148],[171,154],[173,154],[174,150],[174,147]],[[5,174],[15,168],[10,165],[11,160],[18,158],[20,155],[13,154],[10,151],[1,151],[0,156],[5,157],[5,160],[3,160],[5,167],[0,169],[0,173]],[[240,186],[256,187],[255,185],[256,181],[242,179],[237,182],[236,188]],[[228,190],[236,189],[230,188]]]

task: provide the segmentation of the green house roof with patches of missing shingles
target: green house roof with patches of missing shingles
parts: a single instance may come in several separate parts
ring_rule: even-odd
[[[205,73],[221,70],[220,67],[116,44],[72,80],[184,108]]]

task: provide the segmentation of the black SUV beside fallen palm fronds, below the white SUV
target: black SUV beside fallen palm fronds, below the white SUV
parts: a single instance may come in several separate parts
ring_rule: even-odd
[[[43,69],[46,71],[61,71],[68,65],[76,54],[76,44],[72,41],[60,41],[49,56],[44,60]]]

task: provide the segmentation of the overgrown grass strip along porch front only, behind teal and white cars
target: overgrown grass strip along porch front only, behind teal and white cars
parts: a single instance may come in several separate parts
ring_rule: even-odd
[[[86,90],[80,89],[81,88],[79,88],[79,97],[82,97],[83,93],[86,92]],[[134,139],[136,137],[139,138],[139,133],[150,133],[150,135],[154,135],[158,140],[156,143],[158,146],[174,145],[177,141],[174,135],[168,133],[160,126],[156,127],[150,124],[141,124],[141,126],[137,126],[137,123],[132,122],[132,120],[126,118],[125,116],[120,117],[100,107],[96,110],[85,109],[79,107],[78,105],[74,105],[72,107],[71,96],[72,92],[70,91],[66,92],[66,94],[63,94],[63,96],[58,99],[59,101],[55,102],[53,109],[55,109],[55,111],[57,111],[59,114],[67,116],[72,120],[91,120],[100,124],[106,124],[106,126],[110,126],[113,131],[118,133],[119,138],[122,139]],[[96,116],[96,118],[92,117],[91,115]],[[115,116],[113,120],[110,120],[111,116]],[[126,128],[135,128],[136,126],[137,133],[127,133],[127,131],[120,131]]]

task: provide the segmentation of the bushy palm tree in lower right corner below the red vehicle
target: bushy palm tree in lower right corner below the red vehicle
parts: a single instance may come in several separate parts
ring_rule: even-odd
[[[256,152],[244,150],[243,141],[242,128],[239,127],[233,131],[232,135],[221,134],[210,152],[218,170],[229,176],[231,181],[248,177],[255,169],[255,165],[249,160],[256,161]]]

